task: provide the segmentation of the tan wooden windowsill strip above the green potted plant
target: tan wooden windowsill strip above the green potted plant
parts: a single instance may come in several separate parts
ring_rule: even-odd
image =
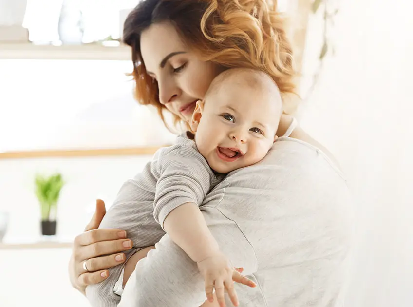
[[[165,145],[168,146],[168,145]],[[121,155],[152,155],[164,146],[146,146],[131,148],[108,148],[108,149],[75,149],[75,150],[43,150],[43,151],[21,151],[0,152],[2,159],[32,159],[32,158],[57,158],[57,157],[94,157],[94,156],[121,156]]]

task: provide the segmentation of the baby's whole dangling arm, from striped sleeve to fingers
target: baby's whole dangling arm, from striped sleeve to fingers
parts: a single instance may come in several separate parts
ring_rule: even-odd
[[[160,177],[154,202],[155,220],[197,263],[204,277],[208,300],[213,300],[215,288],[218,301],[223,303],[226,288],[231,301],[238,306],[233,288],[233,276],[237,272],[220,252],[198,207],[215,179],[214,173],[201,154],[190,147],[175,149],[158,162]]]

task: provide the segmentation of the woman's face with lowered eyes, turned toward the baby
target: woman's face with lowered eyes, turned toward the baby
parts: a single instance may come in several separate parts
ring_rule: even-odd
[[[150,25],[142,32],[140,44],[147,73],[158,82],[160,102],[189,121],[197,100],[204,98],[222,68],[200,60],[170,23]]]

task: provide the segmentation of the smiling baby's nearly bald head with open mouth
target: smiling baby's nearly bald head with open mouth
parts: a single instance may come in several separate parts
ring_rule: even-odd
[[[209,166],[229,173],[265,157],[277,138],[281,114],[281,94],[271,77],[234,68],[212,81],[190,124]]]

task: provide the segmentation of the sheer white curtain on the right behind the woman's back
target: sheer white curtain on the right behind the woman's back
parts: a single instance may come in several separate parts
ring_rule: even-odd
[[[302,126],[338,158],[357,213],[346,306],[413,306],[413,19],[406,0],[345,0],[336,54],[302,108]],[[310,20],[303,92],[320,26]]]

